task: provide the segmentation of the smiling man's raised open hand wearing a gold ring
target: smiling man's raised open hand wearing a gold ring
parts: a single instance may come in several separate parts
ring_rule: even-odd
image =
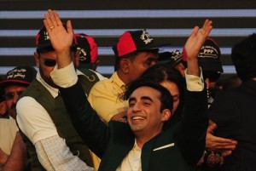
[[[50,43],[57,54],[59,68],[70,64],[70,47],[73,43],[73,28],[71,21],[67,20],[67,30],[63,26],[59,14],[55,10],[48,10],[44,14],[44,26],[49,33]]]

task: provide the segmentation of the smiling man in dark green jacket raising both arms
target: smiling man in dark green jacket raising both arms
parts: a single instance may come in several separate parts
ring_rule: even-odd
[[[206,20],[200,31],[196,26],[185,44],[188,69],[184,117],[177,126],[163,131],[166,119],[172,116],[172,95],[150,81],[137,80],[125,91],[129,124],[103,123],[86,100],[68,53],[73,37],[70,20],[66,31],[56,11],[49,10],[44,17],[58,59],[51,77],[61,86],[74,128],[90,150],[102,158],[99,170],[194,170],[204,151],[208,124],[207,94],[197,54],[212,30],[212,21]],[[63,37],[69,37],[69,41],[63,43]]]

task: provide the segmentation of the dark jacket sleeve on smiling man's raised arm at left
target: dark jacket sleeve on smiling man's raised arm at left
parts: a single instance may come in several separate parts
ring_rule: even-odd
[[[108,126],[90,106],[79,82],[70,88],[60,88],[60,91],[74,128],[90,150],[102,157],[110,137]]]

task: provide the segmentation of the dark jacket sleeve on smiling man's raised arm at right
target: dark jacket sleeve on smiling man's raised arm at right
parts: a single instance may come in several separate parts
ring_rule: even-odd
[[[184,115],[177,140],[183,157],[192,165],[199,161],[205,150],[208,121],[206,89],[201,92],[186,90]]]

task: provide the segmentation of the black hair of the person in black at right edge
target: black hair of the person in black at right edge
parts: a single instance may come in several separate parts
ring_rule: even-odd
[[[240,43],[236,43],[231,52],[236,73],[242,81],[256,77],[256,34],[253,33]]]

